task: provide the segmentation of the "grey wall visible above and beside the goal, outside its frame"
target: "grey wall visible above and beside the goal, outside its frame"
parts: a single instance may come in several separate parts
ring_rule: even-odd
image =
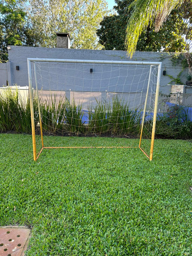
[[[170,53],[158,52],[136,52],[131,60],[136,61],[162,61],[162,71],[166,70],[167,75],[177,77],[182,67],[174,66]],[[12,82],[20,86],[28,85],[27,58],[58,58],[58,59],[93,59],[93,60],[129,60],[125,51],[101,51],[82,49],[60,49],[60,48],[34,48],[11,46],[9,50],[9,61],[11,61]],[[16,70],[19,66],[19,71]],[[172,78],[161,74],[161,90],[165,94],[170,93]],[[186,81],[187,69],[181,75],[183,84]],[[160,91],[161,91],[160,90]]]

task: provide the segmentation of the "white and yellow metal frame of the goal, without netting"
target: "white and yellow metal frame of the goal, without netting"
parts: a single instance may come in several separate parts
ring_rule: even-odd
[[[42,150],[44,148],[131,148],[133,146],[60,146],[60,147],[48,147],[44,146],[43,134],[42,134],[42,122],[41,122],[41,115],[40,115],[40,104],[39,98],[37,97],[37,104],[38,104],[38,112],[39,112],[39,124],[40,124],[40,135],[41,135],[41,150],[37,154],[36,151],[36,139],[35,139],[35,123],[34,123],[34,109],[33,109],[33,88],[32,88],[32,69],[31,65],[34,62],[70,62],[70,63],[100,63],[100,64],[119,64],[119,65],[148,65],[150,67],[150,74],[148,77],[148,84],[147,84],[147,91],[145,97],[145,103],[143,108],[143,116],[141,121],[141,132],[140,132],[140,140],[139,146],[135,148],[139,148],[145,156],[152,161],[153,159],[153,151],[154,151],[154,140],[155,140],[155,127],[156,127],[156,120],[157,120],[157,108],[158,108],[158,96],[159,96],[159,87],[160,87],[160,76],[161,76],[161,65],[162,62],[152,62],[152,61],[118,61],[118,60],[82,60],[82,59],[54,59],[54,58],[27,58],[27,66],[28,66],[28,79],[29,79],[29,99],[30,99],[30,111],[31,111],[31,127],[32,127],[32,142],[33,142],[33,159],[36,161],[39,158]],[[156,84],[156,92],[155,92],[155,106],[154,106],[154,116],[153,116],[153,126],[152,126],[152,136],[151,136],[151,149],[150,155],[148,156],[144,150],[141,148],[141,139],[142,139],[142,132],[144,126],[144,118],[146,112],[146,105],[147,105],[147,97],[148,91],[150,88],[150,79],[152,73],[152,67],[158,66],[158,74],[157,74],[157,84]],[[35,65],[34,65],[35,71]],[[36,81],[36,72],[34,72],[35,76],[35,83],[36,83],[36,91],[38,95],[38,87]]]

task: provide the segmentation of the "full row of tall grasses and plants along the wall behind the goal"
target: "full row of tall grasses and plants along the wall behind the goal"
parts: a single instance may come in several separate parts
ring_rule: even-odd
[[[33,99],[35,130],[39,133],[37,98]],[[127,102],[115,96],[110,103],[96,100],[87,111],[82,104],[76,104],[58,95],[40,98],[42,129],[45,134],[54,135],[99,135],[134,136],[140,133],[142,112],[132,110]],[[148,119],[143,127],[143,137],[150,138],[153,121]],[[87,120],[88,118],[88,120]],[[192,138],[192,111],[179,105],[171,106],[156,121],[156,136],[161,138]],[[31,134],[31,113],[29,99],[20,97],[18,90],[6,88],[0,94],[0,132]]]

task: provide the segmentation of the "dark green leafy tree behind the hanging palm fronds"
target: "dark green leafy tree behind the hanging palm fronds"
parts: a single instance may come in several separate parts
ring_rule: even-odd
[[[97,31],[99,42],[105,50],[126,50],[125,34],[127,20],[134,12],[133,0],[116,0],[114,9],[118,15],[105,16]],[[129,8],[129,12],[126,9]],[[140,34],[136,46],[137,51],[182,51],[185,40],[182,36],[184,22],[181,12],[174,10],[159,31],[155,32],[154,24],[148,26]]]

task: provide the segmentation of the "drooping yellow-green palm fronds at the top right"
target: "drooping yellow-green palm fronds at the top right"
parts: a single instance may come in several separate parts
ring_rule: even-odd
[[[152,27],[155,23],[155,31],[158,32],[172,10],[181,8],[186,20],[186,39],[191,39],[191,7],[192,0],[135,0],[132,7],[134,11],[129,19],[126,29],[125,46],[130,57],[133,56],[138,38],[143,30]],[[128,10],[129,11],[129,10]],[[187,44],[186,57],[190,62],[190,44]],[[192,47],[191,47],[192,50]],[[192,61],[191,61],[192,63]],[[192,66],[192,65],[189,65]]]

